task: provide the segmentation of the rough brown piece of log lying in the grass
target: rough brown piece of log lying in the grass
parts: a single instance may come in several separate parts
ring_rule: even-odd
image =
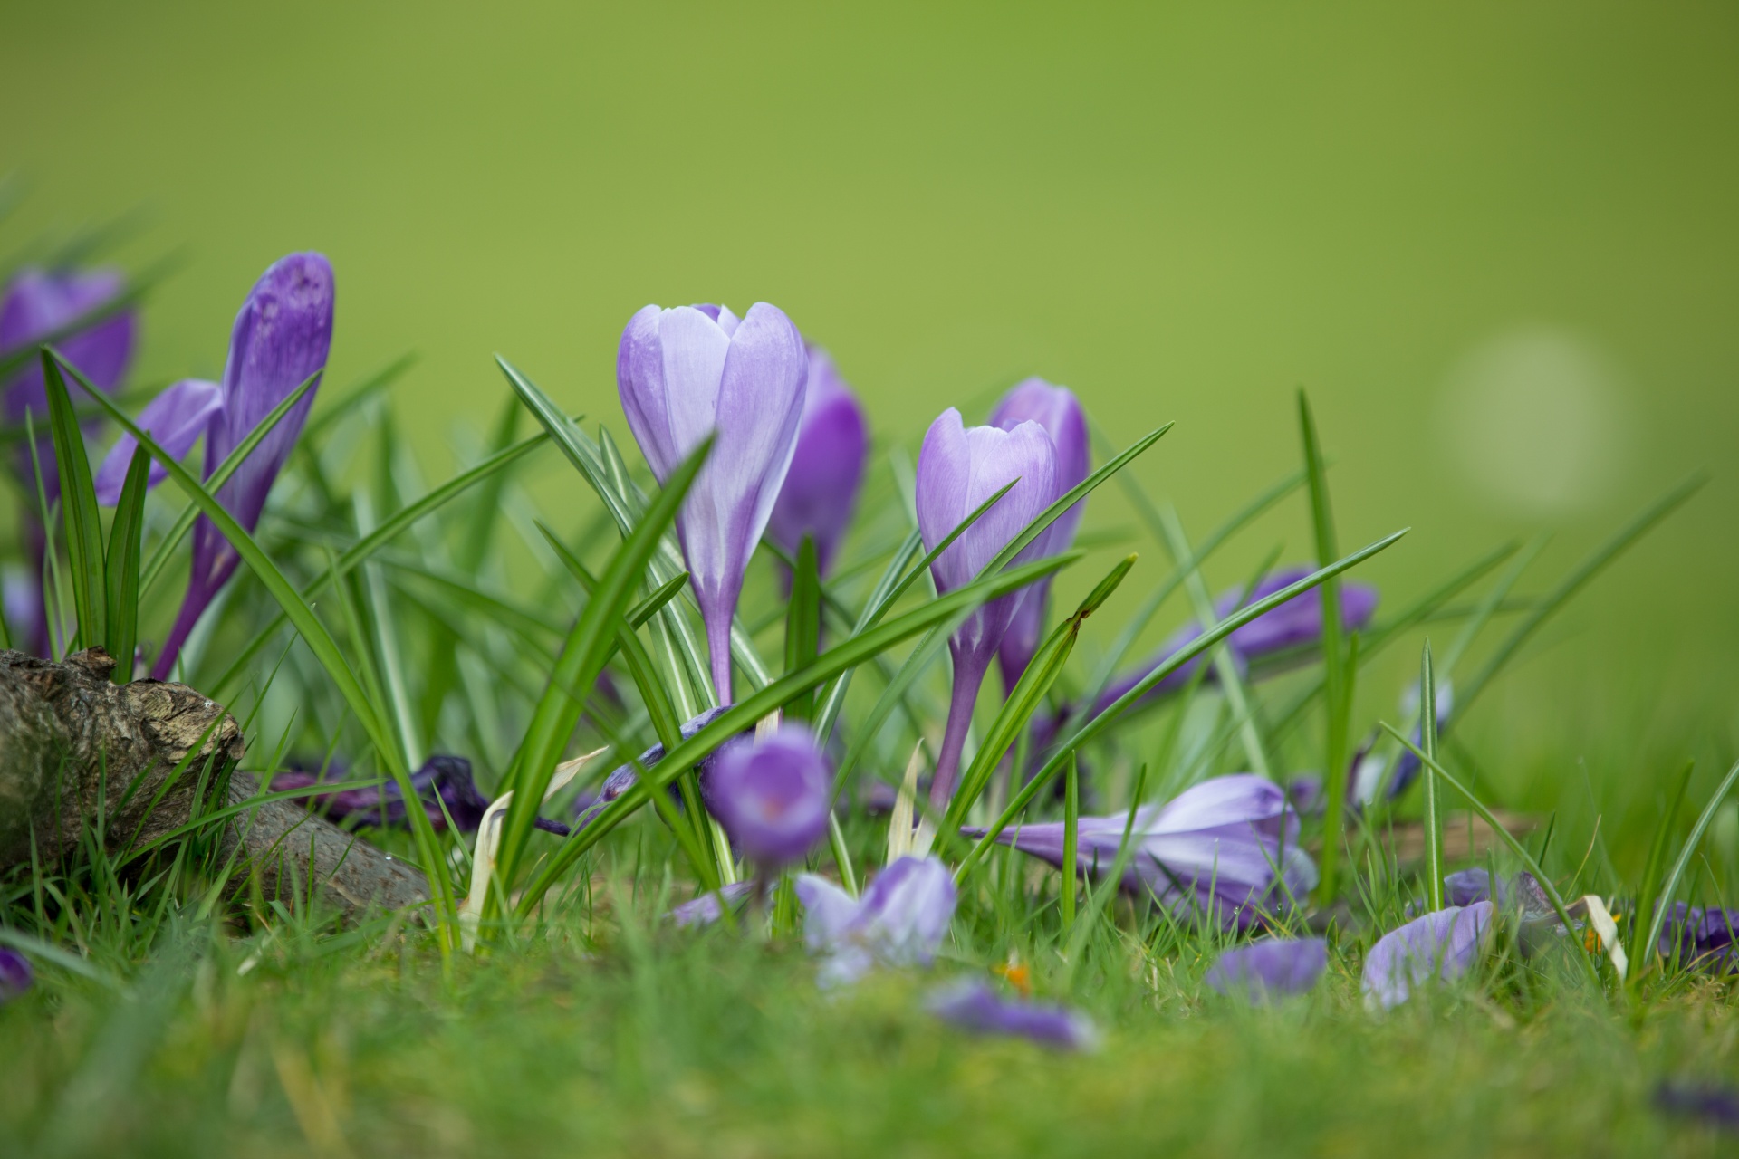
[[[243,740],[223,705],[186,685],[110,683],[113,667],[101,648],[64,664],[0,652],[0,869],[30,860],[31,834],[38,858],[56,862],[99,818],[110,850],[146,846],[188,824],[207,761],[205,784],[226,785],[228,805],[259,791],[233,772]],[[186,772],[163,791],[190,752]],[[311,895],[344,917],[428,900],[421,872],[297,801],[270,801],[221,824],[217,860],[233,858],[231,895]]]

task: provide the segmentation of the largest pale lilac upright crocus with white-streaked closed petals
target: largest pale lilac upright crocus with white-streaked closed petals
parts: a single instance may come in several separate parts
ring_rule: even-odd
[[[730,702],[730,617],[796,450],[809,358],[777,306],[741,320],[723,306],[647,306],[628,320],[616,386],[659,483],[716,431],[676,514],[689,584],[706,622],[718,702]]]

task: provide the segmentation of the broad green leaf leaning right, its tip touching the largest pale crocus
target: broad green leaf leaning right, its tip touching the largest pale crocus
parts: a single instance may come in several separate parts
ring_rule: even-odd
[[[504,884],[515,881],[520,857],[532,834],[537,806],[543,803],[544,789],[555,773],[555,763],[579,718],[579,705],[567,690],[584,692],[603,671],[609,650],[616,645],[617,620],[628,610],[652,553],[657,551],[664,532],[676,520],[676,511],[711,448],[713,440],[708,436],[671,471],[668,483],[642,516],[638,527],[610,556],[610,565],[598,579],[598,587],[586,601],[586,610],[574,620],[574,631],[569,632],[562,655],[555,662],[550,686],[537,702],[513,763],[513,803],[501,825],[501,846],[496,860]]]

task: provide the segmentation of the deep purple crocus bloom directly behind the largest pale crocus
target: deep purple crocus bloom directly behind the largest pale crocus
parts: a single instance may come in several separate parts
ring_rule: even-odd
[[[857,396],[824,349],[809,348],[809,387],[796,454],[772,507],[767,535],[793,556],[809,535],[826,575],[857,507],[870,431]]]

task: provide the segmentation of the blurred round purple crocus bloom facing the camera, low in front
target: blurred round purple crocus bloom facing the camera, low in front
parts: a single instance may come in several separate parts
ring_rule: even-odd
[[[710,780],[710,808],[756,865],[802,860],[828,831],[833,765],[802,725],[730,742]]]

